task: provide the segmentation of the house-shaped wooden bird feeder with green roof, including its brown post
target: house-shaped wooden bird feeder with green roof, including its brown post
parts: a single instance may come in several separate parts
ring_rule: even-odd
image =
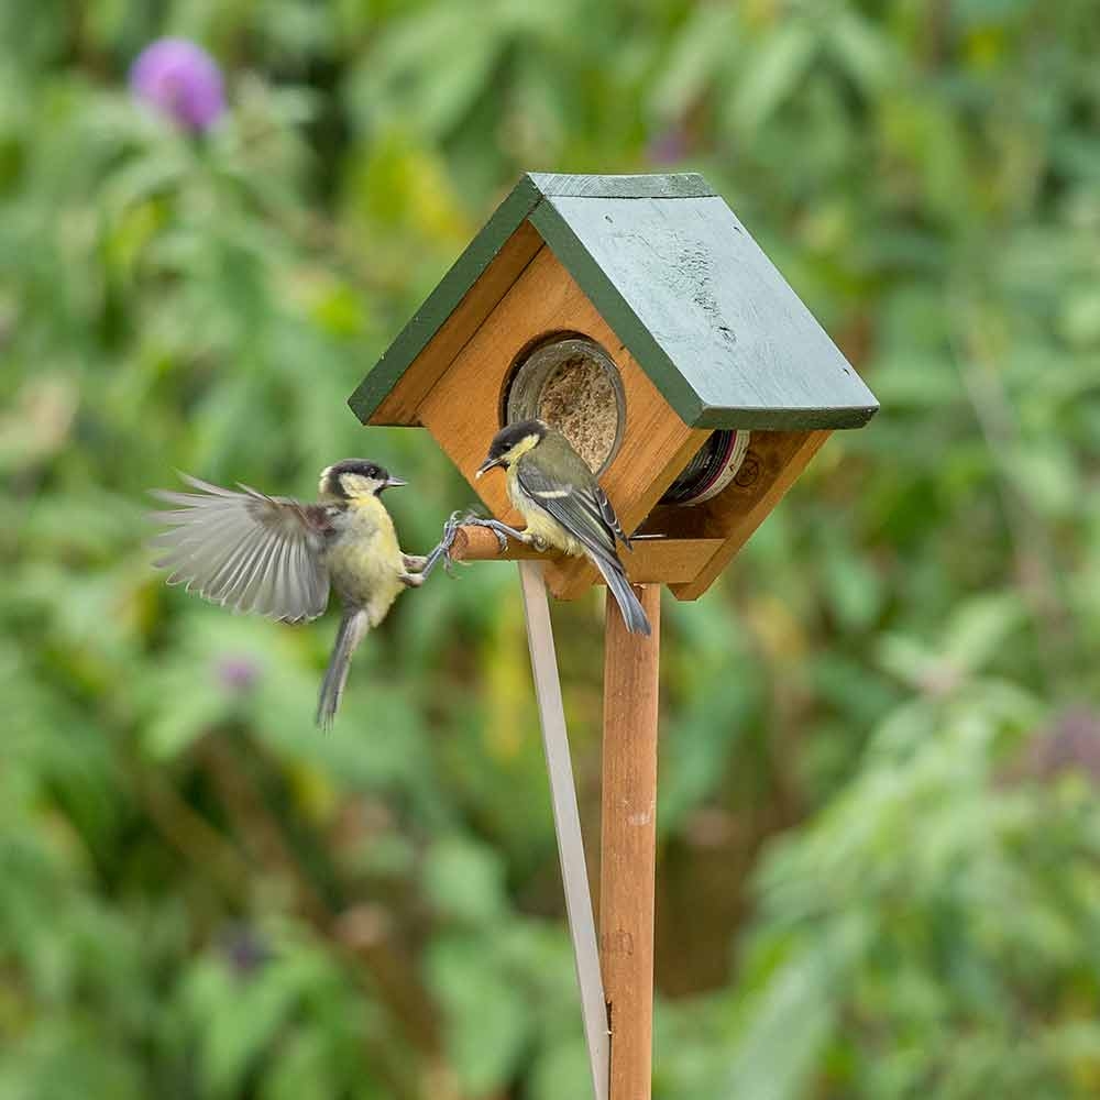
[[[474,472],[501,427],[539,416],[635,538],[622,557],[653,632],[627,634],[607,602],[600,945],[609,1096],[648,1098],[659,585],[702,595],[829,432],[878,404],[702,176],[536,173],[350,404],[367,425],[426,427],[510,526],[504,477]],[[538,557],[502,553],[484,528],[463,528],[453,556]],[[543,569],[561,598],[600,580],[584,559]]]

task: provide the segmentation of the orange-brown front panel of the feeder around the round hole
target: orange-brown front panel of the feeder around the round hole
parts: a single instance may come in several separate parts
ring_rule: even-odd
[[[541,249],[496,309],[454,356],[425,396],[418,419],[462,471],[490,512],[510,526],[522,520],[512,508],[504,474],[474,473],[501,427],[501,396],[512,364],[525,346],[556,332],[580,332],[615,360],[626,397],[623,446],[601,483],[623,527],[632,531],[710,435],[689,428],[669,408],[646,373],[549,249]],[[625,557],[630,557],[629,554]],[[629,572],[629,563],[624,562]],[[596,571],[583,559],[549,562],[554,595],[573,598]]]

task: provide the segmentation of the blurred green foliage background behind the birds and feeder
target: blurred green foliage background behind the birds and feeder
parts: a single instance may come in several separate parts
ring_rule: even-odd
[[[224,66],[201,142],[125,70]],[[0,0],[0,1098],[585,1094],[517,584],[164,587],[173,470],[469,491],[344,400],[525,168],[704,172],[883,410],[666,605],[654,1094],[1100,1088],[1100,18]],[[600,608],[556,612],[585,814]]]

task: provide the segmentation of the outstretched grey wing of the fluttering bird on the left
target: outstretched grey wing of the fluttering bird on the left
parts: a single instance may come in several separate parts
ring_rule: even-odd
[[[199,492],[153,493],[177,506],[152,516],[168,525],[153,539],[165,551],[154,564],[172,571],[168,584],[284,623],[323,614],[329,574],[321,561],[328,530],[322,507],[180,476]]]

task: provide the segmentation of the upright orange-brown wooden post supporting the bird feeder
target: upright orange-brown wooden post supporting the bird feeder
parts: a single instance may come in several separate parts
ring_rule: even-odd
[[[604,636],[600,960],[612,1033],[610,1100],[651,1094],[661,588],[635,591],[652,634],[628,634],[608,594]]]

